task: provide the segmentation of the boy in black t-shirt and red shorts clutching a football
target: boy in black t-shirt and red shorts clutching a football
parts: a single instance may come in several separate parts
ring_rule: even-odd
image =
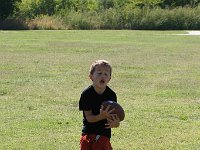
[[[110,106],[104,108],[103,101],[117,102],[117,96],[107,84],[111,79],[112,67],[106,60],[97,60],[90,67],[92,85],[80,97],[79,110],[83,111],[81,150],[112,150],[111,128],[120,125],[119,117],[112,114]]]

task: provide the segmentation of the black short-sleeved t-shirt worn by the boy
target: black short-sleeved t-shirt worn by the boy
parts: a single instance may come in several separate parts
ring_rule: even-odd
[[[117,96],[113,90],[108,86],[102,94],[98,94],[93,86],[89,86],[85,89],[80,97],[79,110],[89,111],[92,110],[94,115],[98,115],[101,109],[101,103],[103,101],[115,101],[117,102]],[[90,123],[87,121],[85,114],[83,112],[83,129],[82,134],[99,134],[111,138],[111,129],[106,129],[105,124],[107,120],[100,120],[95,123]]]

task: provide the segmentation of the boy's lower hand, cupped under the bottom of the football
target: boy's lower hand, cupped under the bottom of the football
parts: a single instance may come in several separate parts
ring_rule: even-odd
[[[106,124],[106,128],[117,128],[120,125],[120,119],[117,114],[112,114],[111,117],[107,118],[108,123]]]

